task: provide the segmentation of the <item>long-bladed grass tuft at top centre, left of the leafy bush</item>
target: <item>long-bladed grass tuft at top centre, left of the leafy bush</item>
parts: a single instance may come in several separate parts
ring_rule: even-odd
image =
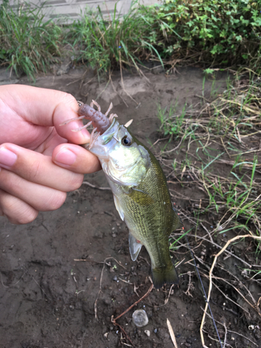
[[[66,38],[79,51],[78,61],[85,61],[98,73],[122,65],[134,66],[140,72],[139,64],[148,56],[157,56],[161,61],[137,3],[133,1],[129,12],[121,18],[116,13],[116,5],[107,19],[99,6],[97,12],[86,10],[81,19],[70,26]]]

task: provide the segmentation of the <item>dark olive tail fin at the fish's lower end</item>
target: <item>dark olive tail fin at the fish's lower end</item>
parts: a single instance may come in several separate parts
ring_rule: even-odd
[[[171,263],[167,267],[152,268],[152,281],[156,289],[160,289],[164,284],[178,284],[175,266]]]

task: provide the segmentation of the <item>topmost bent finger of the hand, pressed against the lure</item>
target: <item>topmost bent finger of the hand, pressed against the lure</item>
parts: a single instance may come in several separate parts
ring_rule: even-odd
[[[68,141],[77,144],[88,143],[90,134],[86,129],[72,132],[82,126],[80,120],[60,126],[78,115],[77,100],[69,93],[60,90],[23,85],[8,85],[1,89],[1,99],[8,100],[8,106],[27,122],[33,125],[56,128],[56,132]]]

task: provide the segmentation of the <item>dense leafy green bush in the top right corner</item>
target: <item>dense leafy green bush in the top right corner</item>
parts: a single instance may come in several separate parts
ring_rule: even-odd
[[[190,54],[212,65],[251,62],[258,68],[259,7],[249,0],[166,0],[147,17],[164,58]]]

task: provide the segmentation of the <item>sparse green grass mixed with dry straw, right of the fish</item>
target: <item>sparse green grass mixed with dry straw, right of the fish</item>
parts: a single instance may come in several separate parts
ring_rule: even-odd
[[[200,110],[187,113],[175,104],[175,110],[168,112],[157,106],[161,132],[175,140],[175,145],[168,142],[162,152],[165,157],[174,155],[173,179],[169,180],[185,188],[189,175],[192,187],[205,193],[193,203],[198,207],[190,220],[195,233],[204,216],[214,214],[216,232],[245,230],[260,235],[260,76],[248,70],[243,76],[244,84],[239,84],[240,79],[233,84],[230,81],[227,90]],[[171,129],[177,129],[175,137]],[[175,152],[171,153],[171,148],[176,148]],[[184,193],[180,196],[184,199]]]

